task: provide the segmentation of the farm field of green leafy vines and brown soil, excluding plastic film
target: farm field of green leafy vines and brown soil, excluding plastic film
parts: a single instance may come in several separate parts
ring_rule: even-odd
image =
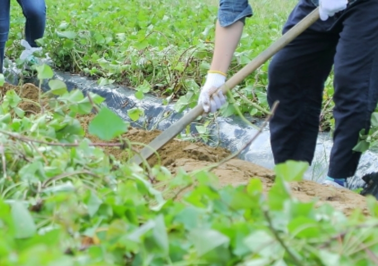
[[[280,37],[295,3],[251,1],[255,15],[230,75]],[[378,264],[376,198],[303,181],[301,162],[272,171],[199,141],[175,139],[143,165],[130,164],[161,132],[132,128],[100,96],[53,79],[55,69],[69,71],[193,107],[217,1],[47,5],[41,45],[54,64],[23,74],[49,80],[51,90],[0,79],[0,266]],[[14,4],[6,50],[13,61],[22,28]],[[242,113],[265,117],[268,64],[233,92]],[[331,84],[323,130],[332,129]],[[233,114],[229,105],[219,115]]]

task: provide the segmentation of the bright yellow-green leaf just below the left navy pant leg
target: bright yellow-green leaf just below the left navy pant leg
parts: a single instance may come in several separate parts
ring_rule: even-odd
[[[288,160],[284,163],[278,164],[275,167],[275,172],[277,177],[283,180],[290,181],[300,181],[303,178],[303,174],[308,168],[307,162],[299,162]]]

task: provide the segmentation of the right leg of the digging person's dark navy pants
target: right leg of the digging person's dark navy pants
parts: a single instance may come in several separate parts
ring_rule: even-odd
[[[352,149],[359,132],[370,129],[378,101],[378,2],[356,2],[341,19],[343,30],[337,45],[334,77],[334,145],[328,176],[354,176],[360,152]]]

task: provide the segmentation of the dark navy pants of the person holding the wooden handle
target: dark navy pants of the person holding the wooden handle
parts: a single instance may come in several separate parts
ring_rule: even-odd
[[[299,0],[286,32],[315,8]],[[328,176],[355,174],[361,153],[352,149],[369,130],[378,101],[378,0],[357,0],[318,20],[277,53],[269,67],[268,102],[280,101],[270,123],[275,163],[311,164],[319,130],[324,82],[334,67],[335,132]]]

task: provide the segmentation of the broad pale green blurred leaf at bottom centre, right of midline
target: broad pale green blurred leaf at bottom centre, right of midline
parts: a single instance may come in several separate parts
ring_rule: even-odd
[[[212,229],[194,229],[190,232],[191,239],[198,256],[210,252],[219,246],[228,246],[230,239]]]

